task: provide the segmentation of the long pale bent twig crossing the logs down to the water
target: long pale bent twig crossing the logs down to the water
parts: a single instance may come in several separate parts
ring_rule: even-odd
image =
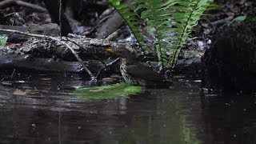
[[[31,36],[31,37],[36,37],[36,38],[46,38],[46,39],[51,39],[54,40],[55,42],[60,42],[62,45],[65,45],[68,49],[70,49],[70,51],[72,52],[72,54],[74,54],[75,58],[77,58],[78,62],[80,62],[80,64],[82,65],[82,67],[86,70],[86,72],[90,75],[90,78],[92,80],[95,80],[96,77],[94,77],[94,74],[92,74],[90,72],[90,70],[86,67],[86,65],[82,62],[82,59],[78,56],[78,54],[74,51],[74,49],[67,44],[66,42],[63,42],[62,39],[59,38],[54,38],[51,36],[47,36],[47,35],[42,35],[42,34],[29,34],[29,33],[25,33],[22,31],[18,31],[18,30],[5,30],[5,29],[0,29],[0,31],[5,31],[5,32],[10,32],[10,33],[16,33],[16,34],[24,34],[27,36]]]

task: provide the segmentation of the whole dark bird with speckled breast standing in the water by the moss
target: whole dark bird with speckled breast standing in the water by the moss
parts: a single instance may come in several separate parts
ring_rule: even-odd
[[[121,58],[120,71],[127,84],[146,87],[170,85],[170,82],[166,81],[157,71],[138,62],[138,58],[130,50],[124,47],[111,47],[106,51]]]

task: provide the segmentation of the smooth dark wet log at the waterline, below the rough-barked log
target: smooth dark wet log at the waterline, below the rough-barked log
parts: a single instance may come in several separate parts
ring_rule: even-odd
[[[99,70],[106,68],[110,63],[108,61],[89,60],[84,64],[97,75]],[[82,74],[85,72],[79,62],[66,62],[57,58],[34,58],[33,55],[26,54],[6,54],[0,56],[1,70],[37,70],[37,71],[57,71]]]

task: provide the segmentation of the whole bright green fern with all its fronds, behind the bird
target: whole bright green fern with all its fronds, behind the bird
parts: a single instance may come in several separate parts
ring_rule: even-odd
[[[109,2],[122,15],[142,50],[146,50],[141,25],[154,36],[154,46],[158,62],[162,67],[173,69],[178,54],[186,44],[194,26],[204,11],[214,8],[214,0],[134,0],[122,3],[121,0]]]

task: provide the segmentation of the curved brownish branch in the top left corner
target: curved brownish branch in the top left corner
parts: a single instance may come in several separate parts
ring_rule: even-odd
[[[34,5],[32,3],[29,3],[29,2],[23,2],[21,0],[5,0],[5,1],[2,1],[2,2],[0,2],[0,8],[4,8],[4,7],[10,6],[10,5],[13,5],[13,4],[16,4],[16,5],[19,5],[19,6],[25,6],[25,7],[28,7],[30,9],[37,10],[38,12],[46,12],[47,11],[42,6]]]

